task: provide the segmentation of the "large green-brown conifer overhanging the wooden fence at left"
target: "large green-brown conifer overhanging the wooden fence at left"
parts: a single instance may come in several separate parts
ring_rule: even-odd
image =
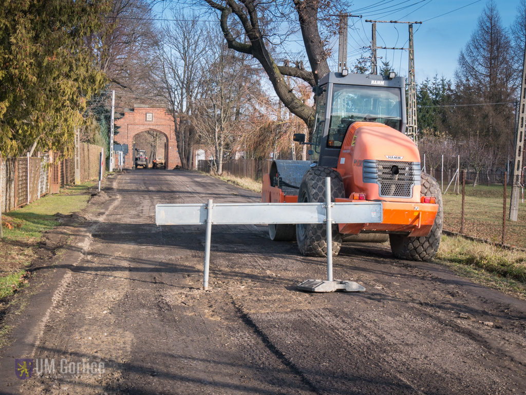
[[[0,8],[0,150],[68,155],[86,102],[105,84],[94,33],[108,0],[24,0]]]

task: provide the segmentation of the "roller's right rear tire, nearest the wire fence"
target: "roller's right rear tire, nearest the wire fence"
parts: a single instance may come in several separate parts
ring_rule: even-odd
[[[421,191],[420,196],[434,196],[437,198],[438,212],[434,219],[431,232],[427,236],[408,237],[401,235],[389,235],[391,251],[399,259],[426,261],[435,256],[440,246],[442,236],[442,193],[437,180],[429,174],[422,173],[420,176]]]

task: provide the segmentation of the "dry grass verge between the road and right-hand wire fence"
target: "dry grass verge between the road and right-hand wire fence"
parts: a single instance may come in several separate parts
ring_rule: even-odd
[[[444,236],[436,258],[457,273],[526,299],[526,252]]]

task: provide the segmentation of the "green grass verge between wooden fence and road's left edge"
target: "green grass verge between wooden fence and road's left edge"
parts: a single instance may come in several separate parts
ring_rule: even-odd
[[[18,210],[2,215],[4,238],[0,240],[0,299],[13,295],[27,283],[26,268],[45,231],[59,225],[55,214],[68,215],[86,207],[94,182],[60,189]]]

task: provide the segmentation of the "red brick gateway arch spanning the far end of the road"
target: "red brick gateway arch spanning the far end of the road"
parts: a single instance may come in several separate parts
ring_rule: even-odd
[[[175,136],[178,119],[174,124],[174,118],[166,112],[165,108],[135,105],[134,108],[127,108],[119,115],[120,117],[115,119],[115,125],[119,127],[115,142],[128,145],[128,154],[124,157],[125,169],[131,169],[133,165],[134,137],[147,130],[154,130],[166,136],[166,168],[173,169],[176,165],[180,166]]]

